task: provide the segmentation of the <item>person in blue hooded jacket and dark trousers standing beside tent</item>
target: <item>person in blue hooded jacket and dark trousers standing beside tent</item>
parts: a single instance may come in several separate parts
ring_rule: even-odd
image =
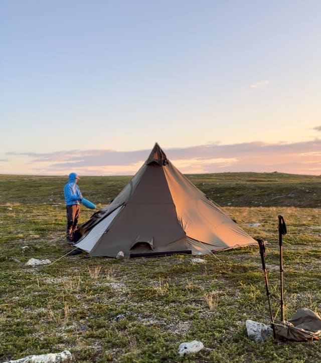
[[[78,219],[80,215],[80,202],[82,200],[82,194],[77,185],[78,180],[78,174],[76,172],[71,172],[69,174],[68,183],[64,187],[67,211],[66,239],[69,242],[73,241],[73,234],[78,228]]]

